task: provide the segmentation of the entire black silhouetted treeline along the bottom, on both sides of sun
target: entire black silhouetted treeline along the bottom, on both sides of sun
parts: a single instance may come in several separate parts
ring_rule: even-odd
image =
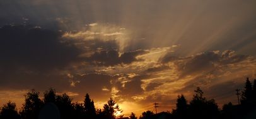
[[[223,89],[224,90],[224,89]],[[214,99],[208,100],[204,96],[201,88],[197,87],[191,101],[187,101],[184,95],[178,95],[176,109],[172,112],[153,113],[152,111],[144,111],[141,116],[137,117],[131,113],[131,119],[233,119],[233,118],[256,118],[256,80],[253,85],[247,78],[245,87],[239,95],[241,104],[233,105],[227,103],[223,105],[222,110],[217,105]],[[46,105],[54,104],[59,111],[59,116],[62,119],[113,119],[119,118],[115,113],[120,110],[117,102],[112,98],[107,101],[103,109],[95,109],[93,100],[86,94],[83,103],[73,103],[71,98],[64,93],[63,95],[56,95],[55,90],[50,88],[45,91],[44,98],[39,98],[39,92],[32,90],[25,95],[25,103],[21,110],[16,109],[15,103],[9,101],[1,107],[0,118],[12,119],[36,119],[42,115],[42,108]]]

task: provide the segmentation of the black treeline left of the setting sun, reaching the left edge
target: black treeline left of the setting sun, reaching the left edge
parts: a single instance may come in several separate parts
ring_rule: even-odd
[[[45,113],[42,113],[42,109],[47,105],[57,106],[57,110],[54,110],[57,114],[51,115],[50,113],[49,115],[45,115]],[[52,108],[54,108],[54,106],[52,106]],[[52,110],[52,108],[49,108],[49,110]],[[43,116],[44,118],[51,118],[51,116],[55,115],[59,115],[61,119],[113,119],[116,118],[115,113],[117,111],[122,110],[119,109],[117,101],[114,101],[113,98],[107,101],[103,106],[103,110],[96,110],[94,101],[90,99],[88,94],[86,94],[83,103],[73,103],[66,93],[56,95],[55,90],[50,88],[48,91],[45,91],[42,100],[39,98],[38,91],[32,90],[26,93],[25,103],[20,111],[16,109],[15,103],[9,101],[1,107],[0,119],[37,119]]]

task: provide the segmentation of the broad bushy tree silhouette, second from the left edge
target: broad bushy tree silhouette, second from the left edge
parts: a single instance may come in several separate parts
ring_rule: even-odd
[[[38,117],[42,100],[39,98],[39,92],[32,90],[25,95],[25,104],[23,104],[20,114],[23,119],[35,119]]]

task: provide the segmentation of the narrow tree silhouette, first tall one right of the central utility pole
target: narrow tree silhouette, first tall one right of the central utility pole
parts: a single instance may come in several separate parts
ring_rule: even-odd
[[[187,104],[185,96],[178,95],[176,110],[173,110],[173,115],[175,115],[176,118],[187,118],[188,107],[189,105]]]

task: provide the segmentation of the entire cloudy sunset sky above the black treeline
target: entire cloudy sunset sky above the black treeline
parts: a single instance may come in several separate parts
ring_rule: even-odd
[[[256,1],[0,1],[0,105],[50,87],[125,115],[172,111],[197,86],[220,105],[256,78]]]

